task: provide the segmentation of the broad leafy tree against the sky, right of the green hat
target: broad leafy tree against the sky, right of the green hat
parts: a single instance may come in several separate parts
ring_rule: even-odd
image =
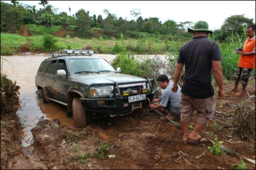
[[[221,34],[218,36],[219,40],[225,40],[229,37],[232,32],[241,35],[243,33],[243,27],[248,24],[253,23],[253,18],[249,19],[244,17],[244,15],[232,15],[225,19],[223,25],[221,26]]]

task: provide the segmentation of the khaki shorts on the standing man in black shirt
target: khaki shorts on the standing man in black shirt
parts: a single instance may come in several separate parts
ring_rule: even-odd
[[[181,94],[181,122],[190,122],[194,111],[197,111],[197,123],[208,124],[215,113],[214,96],[206,99],[197,99]]]

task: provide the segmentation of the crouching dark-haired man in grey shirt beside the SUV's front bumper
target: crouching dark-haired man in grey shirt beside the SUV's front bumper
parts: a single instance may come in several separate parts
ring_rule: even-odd
[[[180,117],[180,105],[181,105],[181,88],[176,93],[172,92],[171,88],[173,83],[169,82],[167,75],[161,74],[157,77],[156,81],[161,89],[164,89],[162,96],[159,99],[152,100],[153,103],[160,102],[158,105],[150,104],[152,109],[163,108],[165,109],[167,116],[165,118],[173,120],[174,117]],[[161,118],[162,120],[165,118]]]

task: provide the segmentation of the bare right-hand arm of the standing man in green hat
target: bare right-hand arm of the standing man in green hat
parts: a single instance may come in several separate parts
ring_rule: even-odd
[[[212,70],[213,70],[214,79],[219,87],[218,99],[223,99],[225,97],[225,91],[224,91],[224,82],[223,82],[221,61],[212,60]]]

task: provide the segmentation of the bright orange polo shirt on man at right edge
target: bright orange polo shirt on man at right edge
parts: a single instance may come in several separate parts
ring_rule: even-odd
[[[255,36],[251,38],[247,38],[244,43],[243,52],[248,53],[255,51]],[[254,55],[240,55],[239,67],[243,68],[255,68],[255,54]]]

